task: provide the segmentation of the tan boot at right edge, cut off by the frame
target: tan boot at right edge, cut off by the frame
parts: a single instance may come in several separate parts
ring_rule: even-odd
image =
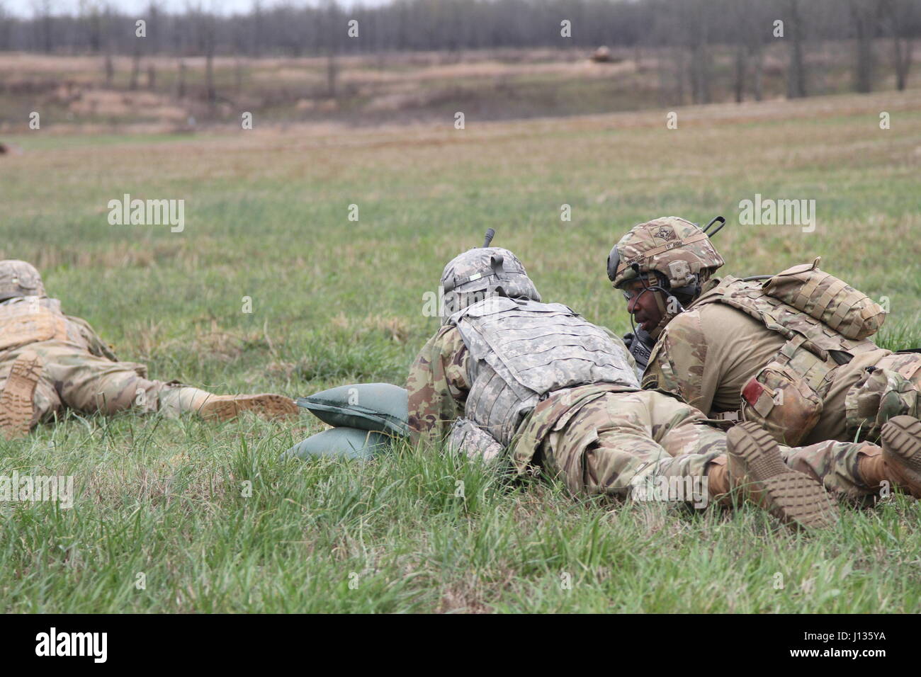
[[[911,416],[889,419],[882,426],[882,451],[864,452],[857,470],[870,487],[888,482],[921,498],[921,421]]]

